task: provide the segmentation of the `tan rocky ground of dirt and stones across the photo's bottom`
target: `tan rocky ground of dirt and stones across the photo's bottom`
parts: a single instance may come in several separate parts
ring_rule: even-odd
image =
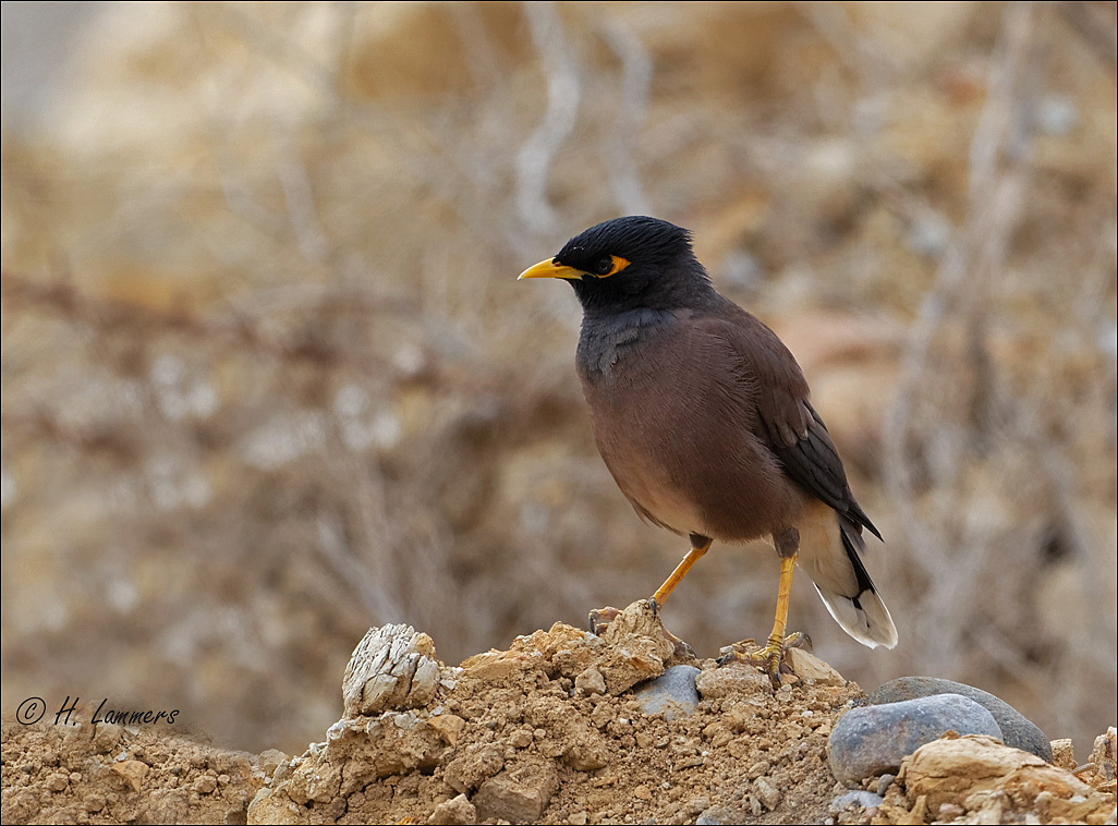
[[[948,733],[896,773],[839,782],[828,739],[865,694],[792,656],[796,675],[774,691],[750,666],[684,657],[645,602],[600,636],[556,624],[461,666],[427,635],[383,626],[353,653],[342,719],[301,757],[150,727],[7,721],[2,819],[1115,823],[1115,729],[1082,766],[1068,741],[1050,763]]]

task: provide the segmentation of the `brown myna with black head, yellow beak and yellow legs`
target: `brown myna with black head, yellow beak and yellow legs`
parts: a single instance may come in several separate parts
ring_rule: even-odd
[[[846,634],[871,648],[897,645],[862,560],[863,529],[881,533],[851,492],[803,371],[773,330],[716,289],[690,230],[614,218],[527,278],[575,288],[575,361],[598,452],[644,521],[690,540],[652,596],[654,610],[716,541],[767,537],[780,560],[776,616],[749,662],[774,687],[786,651],[804,640],[786,636],[797,566]]]

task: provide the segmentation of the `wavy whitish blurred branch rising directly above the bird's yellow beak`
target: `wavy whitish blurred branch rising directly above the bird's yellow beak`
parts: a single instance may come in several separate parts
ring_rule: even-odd
[[[575,127],[581,89],[555,4],[533,1],[523,3],[523,9],[547,82],[548,106],[540,125],[517,153],[517,205],[530,228],[547,231],[556,220],[548,201],[548,170]]]

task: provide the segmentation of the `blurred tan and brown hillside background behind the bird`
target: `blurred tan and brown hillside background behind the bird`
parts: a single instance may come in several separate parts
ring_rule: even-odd
[[[900,629],[871,690],[1115,722],[1115,3],[4,2],[3,711],[301,753],[371,625],[448,663],[651,594],[571,235],[691,228],[799,359]],[[766,545],[665,610],[771,625]]]

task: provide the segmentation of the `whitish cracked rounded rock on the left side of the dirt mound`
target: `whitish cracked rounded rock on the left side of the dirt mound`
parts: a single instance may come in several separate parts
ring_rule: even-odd
[[[439,677],[435,644],[426,634],[409,625],[370,628],[342,677],[344,715],[421,708],[435,695]]]

